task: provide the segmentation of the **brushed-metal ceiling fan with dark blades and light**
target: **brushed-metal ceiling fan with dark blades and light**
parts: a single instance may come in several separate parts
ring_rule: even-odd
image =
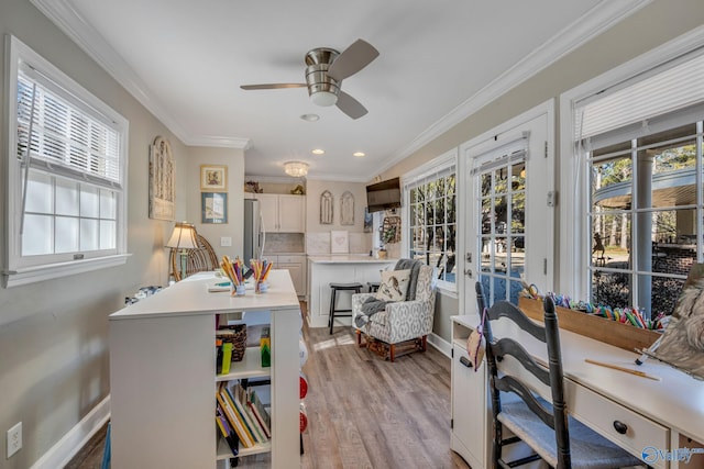
[[[306,54],[305,83],[242,85],[243,90],[308,88],[310,100],[317,105],[336,104],[352,119],[366,114],[358,100],[340,89],[342,80],[356,74],[378,57],[378,51],[363,40],[356,40],[341,53],[329,47],[314,48]]]

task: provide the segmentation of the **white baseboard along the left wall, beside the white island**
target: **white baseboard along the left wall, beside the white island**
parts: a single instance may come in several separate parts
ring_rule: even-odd
[[[66,435],[44,454],[32,469],[63,468],[110,420],[110,395],[91,409]]]

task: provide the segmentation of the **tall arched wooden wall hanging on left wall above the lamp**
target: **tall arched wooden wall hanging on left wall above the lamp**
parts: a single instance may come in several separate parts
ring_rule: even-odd
[[[176,171],[172,146],[157,136],[150,148],[150,219],[174,221]]]

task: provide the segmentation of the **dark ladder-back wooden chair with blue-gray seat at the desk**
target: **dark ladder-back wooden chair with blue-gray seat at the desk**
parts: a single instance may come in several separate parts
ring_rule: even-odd
[[[475,289],[481,313],[485,304],[481,282]],[[546,298],[543,308],[544,326],[534,323],[507,301],[498,301],[487,311],[484,337],[494,421],[494,467],[513,468],[539,459],[560,469],[612,469],[642,464],[568,415],[558,316],[550,298]],[[549,365],[538,364],[518,340],[495,337],[492,322],[499,317],[514,322],[521,331],[544,343]],[[506,356],[515,360],[505,360]],[[504,428],[513,436],[504,437]],[[535,454],[505,460],[504,449],[519,442]]]

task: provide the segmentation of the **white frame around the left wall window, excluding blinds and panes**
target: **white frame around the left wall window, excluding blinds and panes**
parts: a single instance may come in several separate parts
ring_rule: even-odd
[[[111,109],[100,99],[95,97],[74,79],[68,77],[48,60],[40,56],[24,43],[12,35],[6,36],[6,88],[7,100],[4,116],[7,119],[8,153],[3,158],[2,168],[7,182],[6,210],[4,213],[4,246],[3,246],[3,286],[11,288],[21,284],[29,284],[37,281],[65,277],[97,270],[107,267],[122,265],[127,261],[127,208],[128,208],[128,144],[129,144],[129,122],[117,111]],[[37,70],[44,77],[61,88],[63,98],[68,98],[72,105],[79,109],[87,107],[106,121],[119,134],[120,147],[120,181],[121,190],[117,192],[116,203],[116,248],[108,253],[100,252],[96,256],[80,258],[72,256],[66,259],[65,255],[50,255],[45,261],[37,264],[23,260],[21,252],[20,225],[22,220],[22,180],[24,170],[21,161],[16,158],[18,149],[18,77],[21,64],[26,64]],[[59,172],[55,172],[59,176]]]

